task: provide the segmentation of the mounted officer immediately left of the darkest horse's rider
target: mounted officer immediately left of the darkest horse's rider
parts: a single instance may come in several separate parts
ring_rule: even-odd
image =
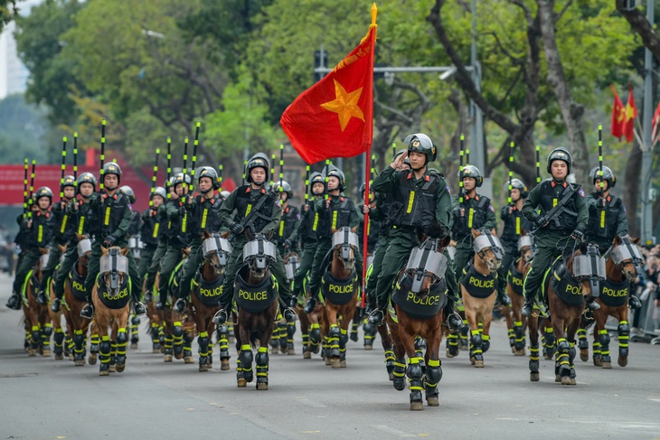
[[[191,252],[184,263],[184,275],[181,277],[179,299],[174,303],[174,310],[183,314],[185,302],[190,295],[191,281],[197,273],[197,269],[203,263],[202,241],[203,233],[210,234],[218,232],[221,228],[220,208],[222,200],[215,193],[220,188],[218,173],[212,166],[203,166],[199,170],[197,184],[201,194],[194,198],[190,194],[184,202],[185,209],[190,212],[191,226],[194,232],[191,234]]]

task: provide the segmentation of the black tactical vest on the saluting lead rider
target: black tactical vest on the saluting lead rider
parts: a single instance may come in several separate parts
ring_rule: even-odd
[[[413,172],[399,174],[399,186],[394,192],[392,226],[420,226],[427,228],[436,222],[436,192],[440,177],[424,174],[425,183],[418,190]]]

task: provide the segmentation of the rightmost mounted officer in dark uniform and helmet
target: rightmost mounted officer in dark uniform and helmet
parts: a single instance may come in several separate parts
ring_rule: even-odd
[[[589,173],[589,179],[591,179],[595,191],[587,194],[587,204],[589,205],[587,240],[599,247],[600,255],[605,255],[616,236],[627,236],[628,220],[623,201],[609,193],[609,190],[617,184],[617,177],[608,166],[603,166],[602,181],[599,172],[600,168],[597,166]],[[633,295],[634,289],[630,289],[629,292],[630,308],[641,307],[642,304]]]

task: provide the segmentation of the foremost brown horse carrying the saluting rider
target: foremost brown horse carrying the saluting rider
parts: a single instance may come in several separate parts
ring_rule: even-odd
[[[426,235],[420,246],[410,251],[408,263],[397,277],[387,314],[396,356],[393,386],[401,391],[405,388],[405,376],[408,376],[410,410],[413,411],[424,409],[422,389],[426,391],[429,407],[439,406],[438,382],[442,379],[439,351],[443,308],[447,304],[445,272],[448,267],[448,258],[442,251],[448,246],[449,237],[439,225],[430,227]],[[419,356],[415,347],[416,336],[427,342],[424,358]]]

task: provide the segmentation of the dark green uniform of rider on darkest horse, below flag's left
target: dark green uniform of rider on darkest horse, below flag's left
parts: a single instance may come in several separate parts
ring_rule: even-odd
[[[234,223],[233,212],[236,211],[236,220],[240,221],[247,217],[250,211],[259,203],[262,197],[269,197],[266,190],[262,187],[259,190],[252,189],[251,185],[243,185],[238,187],[234,192],[231,192],[227,200],[222,204],[220,209],[220,221],[223,226],[231,227]],[[275,199],[267,200],[259,209],[262,217],[252,223],[255,232],[262,232],[268,234],[269,232],[277,233],[279,227],[279,220],[282,217],[282,210],[276,206]],[[236,273],[243,265],[243,247],[248,243],[248,239],[244,233],[239,234],[232,238],[231,256],[227,264],[227,270],[224,275],[224,283],[222,284],[222,295],[220,304],[223,310],[228,310],[228,305],[231,303],[234,293],[234,280]],[[287,282],[287,271],[284,267],[282,257],[277,252],[276,261],[270,266],[270,272],[278,280],[278,293],[280,300],[287,306],[291,303],[291,290]]]

